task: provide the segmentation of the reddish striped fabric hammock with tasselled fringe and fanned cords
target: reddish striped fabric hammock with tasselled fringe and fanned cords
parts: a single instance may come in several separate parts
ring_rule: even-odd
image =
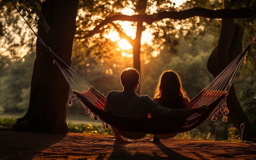
[[[236,59],[234,59],[197,96],[191,99],[189,108],[208,105],[208,112],[205,114],[193,114],[182,118],[155,117],[132,120],[104,112],[106,97],[82,79],[53,52],[51,52],[51,54],[74,93],[74,96],[72,96],[70,100],[70,105],[72,105],[72,99],[76,97],[85,108],[85,113],[90,114],[90,118],[94,118],[95,120],[100,119],[103,122],[103,129],[108,128],[109,124],[119,130],[128,132],[177,134],[194,129],[209,118],[216,121],[217,116],[220,115],[223,115],[222,120],[227,122],[229,110],[227,108],[226,98],[229,88],[242,62],[246,59],[249,46],[251,46],[255,39],[256,36]]]

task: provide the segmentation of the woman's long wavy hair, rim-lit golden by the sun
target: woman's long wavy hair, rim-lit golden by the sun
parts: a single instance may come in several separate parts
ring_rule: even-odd
[[[154,98],[159,99],[161,105],[170,108],[185,108],[184,100],[189,101],[189,97],[182,87],[180,75],[172,70],[166,70],[160,75]]]

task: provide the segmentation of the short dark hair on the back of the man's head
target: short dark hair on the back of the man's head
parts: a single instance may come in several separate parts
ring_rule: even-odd
[[[125,90],[133,90],[139,81],[139,72],[135,68],[126,68],[121,72],[120,80]]]

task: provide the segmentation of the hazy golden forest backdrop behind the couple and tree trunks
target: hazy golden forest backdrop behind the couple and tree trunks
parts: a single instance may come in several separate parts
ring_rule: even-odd
[[[185,7],[185,6],[183,6]],[[195,18],[197,19],[197,18]],[[36,37],[22,20],[20,15],[13,11],[9,15],[1,13],[0,20],[5,27],[0,39],[0,112],[4,115],[25,114],[29,106],[31,76],[33,64],[36,58]],[[140,94],[153,97],[157,78],[160,73],[167,69],[175,70],[182,77],[183,87],[192,99],[202,90],[213,76],[207,71],[207,60],[216,48],[220,34],[221,19],[212,21],[202,21],[204,28],[198,31],[188,32],[186,26],[174,24],[175,28],[170,36],[173,42],[165,43],[167,47],[155,52],[155,48],[149,42],[144,43],[141,49],[141,83]],[[201,22],[196,22],[200,24]],[[36,30],[36,26],[33,27]],[[244,35],[245,42],[252,39],[254,33]],[[161,44],[162,42],[159,42]],[[112,45],[111,45],[112,44]],[[131,48],[121,48],[117,41],[109,42],[98,48],[109,48],[107,52],[112,53],[110,57],[98,55],[86,56],[85,48],[81,38],[74,38],[72,68],[94,86],[99,92],[106,96],[110,90],[122,90],[119,75],[121,70],[132,67]],[[114,45],[114,46],[113,46]],[[244,44],[244,48],[247,44]],[[167,48],[173,48],[170,52]],[[119,50],[116,50],[119,48]],[[251,47],[247,57],[247,64],[242,65],[234,85],[240,104],[256,129],[256,52],[255,45]],[[106,50],[104,50],[104,53]],[[114,54],[115,53],[115,54]],[[111,55],[111,54],[110,54]],[[72,94],[70,93],[70,96]],[[253,97],[253,98],[252,98]],[[77,102],[73,101],[71,107],[67,107],[67,119],[74,117],[85,117],[85,110]],[[80,119],[81,120],[81,119]],[[82,119],[83,121],[83,119]],[[100,124],[100,122],[99,122]],[[184,138],[202,138],[210,140],[227,140],[230,136],[230,129],[233,125],[230,121],[222,122],[207,121],[191,131],[183,133]],[[233,130],[232,130],[233,132]],[[237,138],[239,137],[238,134]]]

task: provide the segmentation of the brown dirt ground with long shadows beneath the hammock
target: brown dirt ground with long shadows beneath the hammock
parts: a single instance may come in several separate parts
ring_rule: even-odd
[[[113,136],[0,129],[0,160],[256,160],[256,143],[151,138],[114,144]]]

